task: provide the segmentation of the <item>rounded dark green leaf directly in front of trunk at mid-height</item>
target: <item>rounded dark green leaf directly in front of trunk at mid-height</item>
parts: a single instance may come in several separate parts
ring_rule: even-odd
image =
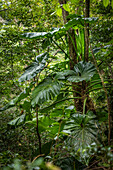
[[[80,61],[74,66],[75,75],[67,78],[71,82],[89,81],[95,74],[96,68],[92,63]]]

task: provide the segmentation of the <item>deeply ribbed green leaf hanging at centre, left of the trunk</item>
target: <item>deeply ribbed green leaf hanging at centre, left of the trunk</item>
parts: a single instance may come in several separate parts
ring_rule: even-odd
[[[32,106],[42,104],[59,94],[61,83],[51,78],[44,79],[32,92]]]

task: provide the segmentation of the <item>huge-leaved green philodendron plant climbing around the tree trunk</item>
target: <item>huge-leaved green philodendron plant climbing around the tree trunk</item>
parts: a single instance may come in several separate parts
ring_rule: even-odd
[[[93,141],[97,142],[97,126],[94,116],[86,114],[85,106],[87,102],[87,94],[99,84],[102,88],[101,80],[96,72],[95,66],[91,62],[84,61],[84,21],[93,23],[97,18],[83,18],[82,16],[72,15],[70,20],[62,28],[56,28],[50,32],[29,32],[22,35],[23,38],[34,40],[36,39],[42,45],[42,53],[37,55],[35,61],[26,67],[25,72],[19,78],[19,82],[28,81],[26,89],[21,92],[16,98],[11,100],[6,106],[0,109],[4,111],[10,107],[17,106],[19,103],[24,110],[24,114],[16,119],[10,121],[10,126],[36,126],[37,135],[39,139],[39,153],[48,155],[50,148],[58,140],[59,135],[67,136],[72,134],[74,137],[73,145],[77,151],[80,147],[85,148]],[[67,44],[64,36],[70,28],[77,27],[79,29],[79,36],[77,38],[77,53],[78,63],[73,63],[73,70],[70,70],[69,56]],[[61,42],[61,44],[60,44]],[[59,49],[59,51],[55,51]],[[49,47],[49,50],[46,48]],[[57,57],[52,55],[52,52],[60,55],[65,61],[60,61],[59,64],[54,64],[50,67],[53,60]],[[36,53],[37,54],[37,53]],[[79,55],[81,54],[81,61]],[[57,61],[56,61],[57,62]],[[62,67],[59,67],[60,64]],[[96,77],[96,80],[95,80]],[[83,96],[73,97],[72,83],[89,82]],[[79,84],[75,85],[78,86]],[[81,89],[80,89],[81,90]],[[80,91],[77,91],[80,93]],[[83,112],[76,112],[76,108],[69,108],[69,103],[66,101],[73,99],[83,100]],[[68,112],[67,112],[68,110]],[[35,114],[36,113],[36,114]],[[34,117],[36,115],[36,117]],[[47,132],[50,142],[42,145],[42,132]],[[63,139],[64,140],[64,139]],[[68,138],[67,141],[70,141]],[[48,147],[48,149],[46,149]]]

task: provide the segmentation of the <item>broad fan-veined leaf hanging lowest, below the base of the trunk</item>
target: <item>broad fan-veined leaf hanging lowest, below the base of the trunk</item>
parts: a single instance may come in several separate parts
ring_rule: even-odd
[[[97,127],[94,116],[75,113],[65,126],[66,133],[70,136],[67,139],[74,150],[85,148],[92,142],[97,142]]]

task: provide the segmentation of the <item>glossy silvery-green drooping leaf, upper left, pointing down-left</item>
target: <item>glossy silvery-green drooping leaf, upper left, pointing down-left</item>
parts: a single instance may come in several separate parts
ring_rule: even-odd
[[[36,61],[33,62],[30,66],[25,69],[25,72],[19,78],[19,81],[30,80],[40,73],[45,67],[46,60],[48,59],[49,54],[47,52],[42,53],[36,57]]]

